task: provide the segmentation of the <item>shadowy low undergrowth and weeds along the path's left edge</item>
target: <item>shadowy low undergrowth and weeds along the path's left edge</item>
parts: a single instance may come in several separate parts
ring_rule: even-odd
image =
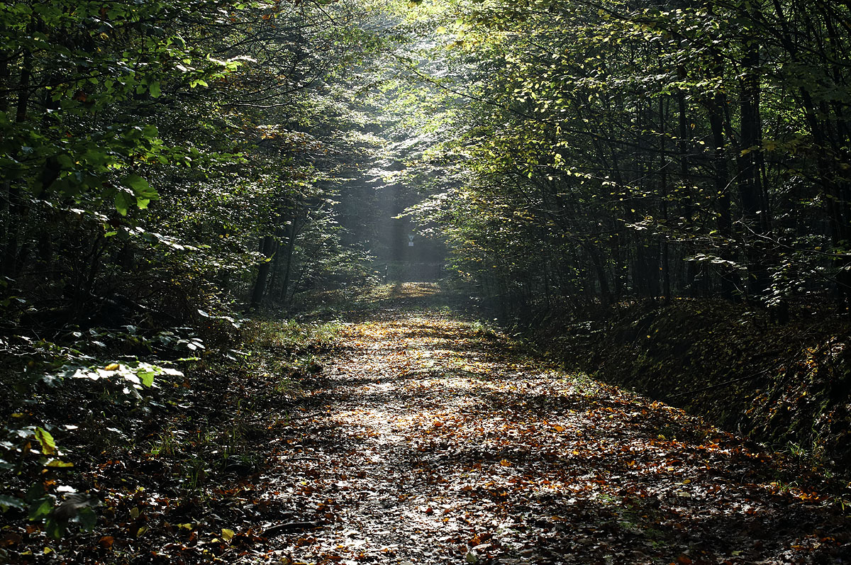
[[[229,485],[260,470],[341,327],[243,322],[216,347],[186,328],[95,329],[88,350],[4,343],[0,561],[72,559],[63,540],[86,536],[99,562],[132,560],[128,534],[192,554],[193,539],[227,529]]]

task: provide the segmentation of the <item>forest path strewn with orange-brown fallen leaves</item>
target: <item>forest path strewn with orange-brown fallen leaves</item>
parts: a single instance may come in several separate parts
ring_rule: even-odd
[[[342,342],[264,477],[293,512],[262,524],[281,562],[848,558],[847,523],[780,459],[475,322],[385,310]]]

